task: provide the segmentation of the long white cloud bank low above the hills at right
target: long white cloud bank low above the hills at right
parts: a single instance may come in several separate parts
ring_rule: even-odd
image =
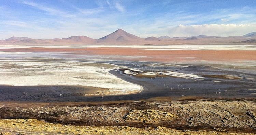
[[[256,31],[255,25],[245,24],[203,24],[203,25],[179,25],[172,28],[170,36],[241,36]]]

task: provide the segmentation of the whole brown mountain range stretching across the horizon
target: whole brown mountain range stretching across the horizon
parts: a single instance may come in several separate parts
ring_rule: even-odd
[[[182,44],[182,43],[256,43],[256,32],[248,33],[243,36],[206,36],[199,35],[193,37],[148,37],[140,38],[122,29],[106,35],[99,39],[87,36],[71,36],[68,38],[54,39],[32,39],[28,37],[11,37],[0,40],[1,44]]]

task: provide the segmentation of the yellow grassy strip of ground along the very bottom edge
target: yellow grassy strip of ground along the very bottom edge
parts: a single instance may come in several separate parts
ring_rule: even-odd
[[[113,126],[72,126],[52,124],[45,121],[38,121],[36,119],[12,119],[0,120],[1,134],[90,134],[90,135],[134,135],[134,134],[151,134],[151,135],[253,135],[253,133],[240,133],[240,132],[219,132],[218,128],[215,131],[189,131],[189,130],[175,130],[165,127],[147,127],[147,128],[134,128],[127,126],[113,127]]]

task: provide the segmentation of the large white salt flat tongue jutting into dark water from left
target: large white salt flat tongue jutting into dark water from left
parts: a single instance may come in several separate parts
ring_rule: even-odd
[[[143,89],[139,85],[110,74],[110,70],[119,68],[113,64],[2,60],[0,67],[0,85],[75,85],[106,88],[105,91],[98,91],[98,94],[101,95],[130,94],[140,92]]]

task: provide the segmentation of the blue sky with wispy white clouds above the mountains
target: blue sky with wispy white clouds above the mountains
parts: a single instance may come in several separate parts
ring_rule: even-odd
[[[256,32],[255,0],[1,0],[0,40],[84,35],[118,28],[146,37]]]

